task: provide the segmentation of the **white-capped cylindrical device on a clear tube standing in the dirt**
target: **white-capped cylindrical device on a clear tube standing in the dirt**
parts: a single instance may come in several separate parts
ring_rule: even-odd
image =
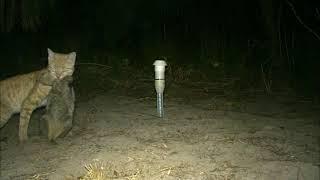
[[[154,63],[155,89],[157,92],[157,111],[158,116],[163,117],[163,91],[165,88],[165,69],[167,63],[164,60],[156,60]]]

